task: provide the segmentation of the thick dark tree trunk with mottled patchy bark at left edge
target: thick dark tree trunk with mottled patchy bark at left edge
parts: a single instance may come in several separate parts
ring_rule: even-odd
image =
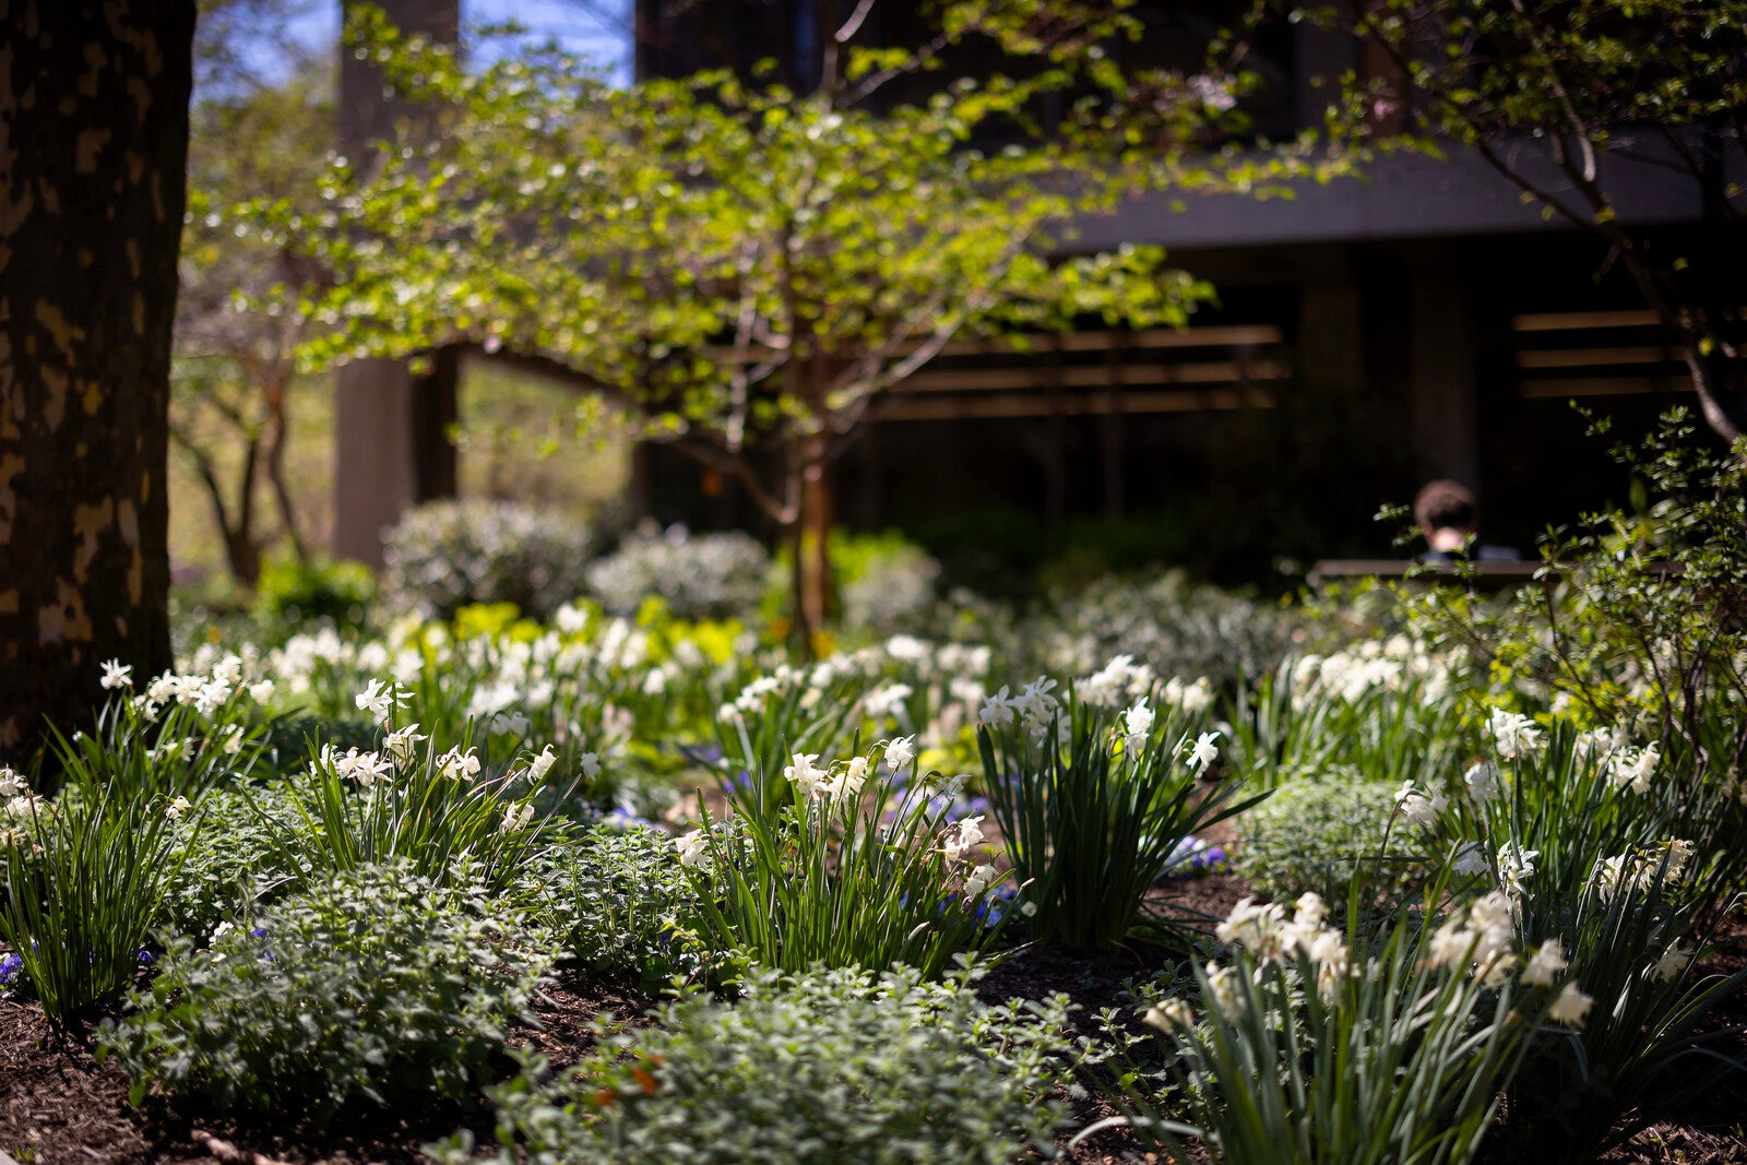
[[[169,665],[194,0],[0,0],[0,760]]]

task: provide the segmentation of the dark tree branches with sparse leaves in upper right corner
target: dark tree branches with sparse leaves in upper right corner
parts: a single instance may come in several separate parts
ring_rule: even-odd
[[[1396,66],[1349,77],[1347,110],[1387,101],[1424,145],[1474,148],[1523,201],[1595,236],[1679,339],[1724,440],[1747,417],[1747,2],[1380,0],[1298,9]],[[1619,162],[1702,208],[1698,243],[1621,218]]]

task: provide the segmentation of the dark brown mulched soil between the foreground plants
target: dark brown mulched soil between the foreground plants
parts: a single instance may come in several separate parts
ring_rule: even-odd
[[[1195,924],[1223,917],[1247,893],[1239,877],[1214,873],[1160,891],[1153,905],[1184,924]],[[1136,982],[1170,971],[1179,959],[1167,948],[1144,943],[1113,952],[1027,947],[996,966],[978,983],[978,994],[1005,1001],[1045,999],[1062,992],[1078,1006],[1076,1024],[1092,1031],[1101,1010],[1130,1004],[1129,992]],[[1703,969],[1730,973],[1744,966],[1747,910],[1737,906]],[[655,1003],[632,985],[568,969],[538,1004],[542,1025],[514,1032],[512,1044],[533,1044],[554,1065],[570,1064],[590,1046],[592,1022],[601,1013],[639,1022]],[[1747,992],[1726,1001],[1712,1024],[1719,1029],[1747,1025]],[[1747,1037],[1733,1036],[1726,1050],[1747,1057]],[[1095,1093],[1066,1099],[1074,1130],[1116,1116],[1109,1102]],[[1644,1132],[1602,1162],[1747,1165],[1747,1074],[1735,1074],[1677,1109],[1653,1107],[1649,1118]],[[54,1032],[33,1004],[0,1001],[0,1165],[7,1165],[7,1153],[17,1165],[411,1165],[426,1160],[419,1146],[445,1139],[461,1127],[472,1128],[480,1142],[491,1142],[491,1114],[479,1109],[377,1111],[328,1128],[309,1128],[295,1120],[196,1121],[150,1099],[136,1109],[128,1104],[128,1079],[121,1069],[93,1060],[89,1031]],[[1064,1134],[1059,1148],[1064,1160],[1080,1165],[1158,1160],[1120,1125],[1071,1142],[1073,1134]],[[1506,1111],[1488,1137],[1481,1162],[1513,1162],[1511,1144],[1511,1116]],[[1198,1148],[1191,1151],[1195,1162],[1205,1160]]]

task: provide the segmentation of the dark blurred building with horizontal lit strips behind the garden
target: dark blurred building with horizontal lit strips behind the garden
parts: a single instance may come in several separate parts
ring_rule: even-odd
[[[915,7],[882,0],[870,35],[915,44]],[[1136,63],[1195,68],[1246,0],[1137,5]],[[819,75],[821,0],[639,0],[639,77],[776,65]],[[1267,87],[1247,107],[1282,138],[1321,121],[1315,77],[1371,72],[1356,42],[1281,23],[1254,37]],[[982,65],[987,68],[989,65]],[[978,68],[954,61],[954,75]],[[901,94],[898,94],[901,96]],[[1654,164],[1609,157],[1621,217],[1696,231],[1698,194]],[[1277,559],[1387,552],[1373,522],[1433,477],[1481,500],[1490,541],[1534,545],[1548,522],[1623,501],[1618,470],[1569,402],[1647,428],[1684,367],[1635,288],[1590,238],[1543,220],[1478,155],[1380,161],[1363,182],[1293,201],[1143,201],[1087,222],[1076,246],[1162,243],[1209,278],[1218,309],[1188,330],[1083,330],[1017,355],[963,342],[893,393],[846,456],[837,512],[942,547],[1032,545],[1106,526],[1216,575]],[[641,473],[662,519],[755,524],[732,489],[671,451]]]

